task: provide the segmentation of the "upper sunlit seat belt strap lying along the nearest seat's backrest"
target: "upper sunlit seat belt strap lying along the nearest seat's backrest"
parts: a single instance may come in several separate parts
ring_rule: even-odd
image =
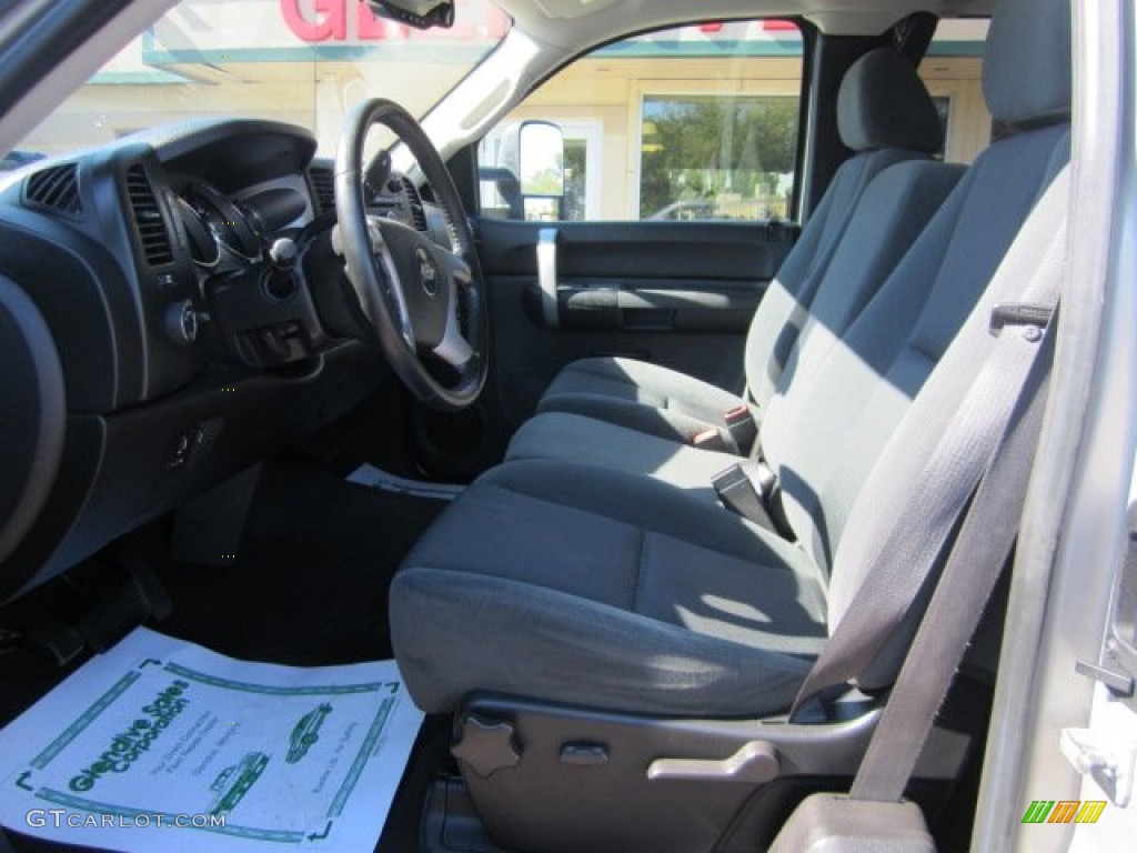
[[[898,481],[919,483],[919,491],[878,539],[882,547],[856,544],[853,565],[846,570],[864,580],[806,674],[791,720],[799,720],[803,707],[819,694],[848,684],[873,663],[920,597],[990,467],[1015,401],[1044,349],[1047,336],[1041,318],[1057,303],[1065,268],[1069,172],[1067,166],[1051,183],[995,274],[991,290],[1016,293],[1020,301],[991,308],[989,331],[997,340],[977,365],[974,380],[962,399],[941,395],[944,399],[935,400],[930,423],[923,424],[938,430],[931,453],[927,457],[908,454],[907,469],[891,472]]]

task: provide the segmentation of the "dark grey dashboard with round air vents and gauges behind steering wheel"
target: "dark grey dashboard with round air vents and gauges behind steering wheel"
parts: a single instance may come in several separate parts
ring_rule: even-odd
[[[315,151],[302,127],[196,121],[32,164],[0,191],[0,357],[24,365],[0,383],[20,438],[0,447],[17,505],[0,601],[389,379]],[[406,176],[364,191],[368,214],[448,240]]]

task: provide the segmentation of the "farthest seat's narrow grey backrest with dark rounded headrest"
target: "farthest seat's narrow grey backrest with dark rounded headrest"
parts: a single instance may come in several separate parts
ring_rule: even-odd
[[[866,188],[894,164],[930,160],[944,141],[931,96],[912,64],[890,48],[873,50],[849,67],[838,93],[837,125],[841,141],[856,154],[837,169],[750,323],[746,381],[760,405],[775,391]],[[916,200],[931,204],[929,199]],[[871,247],[870,255],[880,256],[898,245],[899,237],[886,231],[865,243]],[[879,284],[882,280],[879,275],[873,281]]]

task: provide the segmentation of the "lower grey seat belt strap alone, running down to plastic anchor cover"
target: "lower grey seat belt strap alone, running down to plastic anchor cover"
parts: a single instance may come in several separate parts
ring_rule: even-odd
[[[1041,431],[1053,334],[1035,359],[1009,431],[984,475],[947,565],[849,796],[896,802],[915,770],[924,740],[947,695],[1014,546]]]

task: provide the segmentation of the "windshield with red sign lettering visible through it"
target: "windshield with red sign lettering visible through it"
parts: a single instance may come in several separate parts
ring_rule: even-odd
[[[0,167],[202,116],[273,118],[331,156],[347,110],[390,98],[422,116],[506,35],[489,0],[418,31],[359,0],[183,0],[80,88]]]

